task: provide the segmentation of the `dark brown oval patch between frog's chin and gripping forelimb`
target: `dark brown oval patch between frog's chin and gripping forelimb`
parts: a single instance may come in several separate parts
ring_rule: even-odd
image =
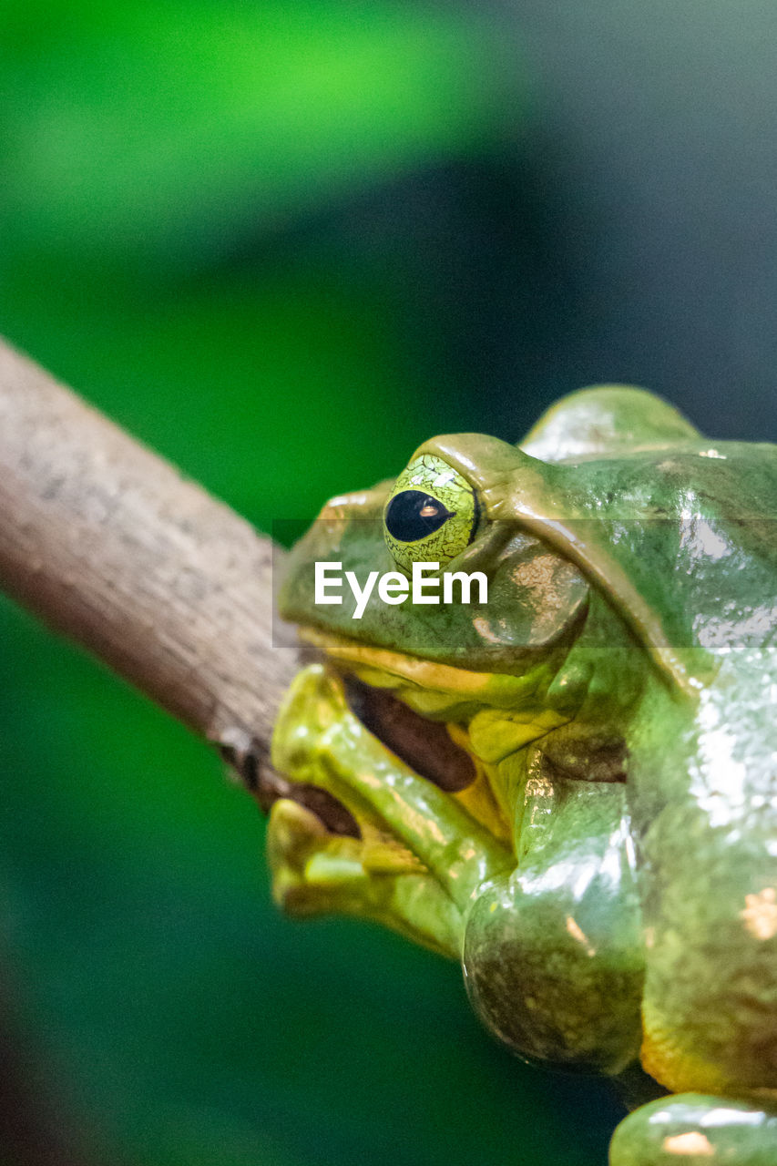
[[[473,759],[452,740],[443,724],[427,721],[385,689],[354,676],[345,679],[345,696],[364,728],[419,777],[448,793],[473,784],[477,775]]]

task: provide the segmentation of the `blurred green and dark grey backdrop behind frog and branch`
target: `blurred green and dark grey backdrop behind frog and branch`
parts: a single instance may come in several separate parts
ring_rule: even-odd
[[[0,2],[0,331],[268,529],[596,380],[774,438],[764,5]],[[0,599],[0,1161],[603,1166],[453,965],[268,900],[198,742]]]

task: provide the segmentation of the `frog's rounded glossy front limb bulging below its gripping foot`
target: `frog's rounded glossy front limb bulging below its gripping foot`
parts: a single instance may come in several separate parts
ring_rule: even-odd
[[[530,782],[524,819],[548,800],[546,830],[471,909],[468,991],[520,1056],[614,1074],[638,1055],[643,983],[624,786]]]

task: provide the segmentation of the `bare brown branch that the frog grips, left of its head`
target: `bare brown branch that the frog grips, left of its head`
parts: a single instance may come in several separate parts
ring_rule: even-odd
[[[0,342],[0,586],[249,775],[295,669],[271,571],[244,519]]]

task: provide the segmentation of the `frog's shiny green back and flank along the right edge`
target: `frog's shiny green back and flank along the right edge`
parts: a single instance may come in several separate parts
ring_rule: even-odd
[[[715,442],[639,389],[560,401],[522,448],[656,612],[695,695],[651,676],[628,732],[648,1070],[777,1089],[777,447]],[[581,519],[580,515],[584,517]]]

